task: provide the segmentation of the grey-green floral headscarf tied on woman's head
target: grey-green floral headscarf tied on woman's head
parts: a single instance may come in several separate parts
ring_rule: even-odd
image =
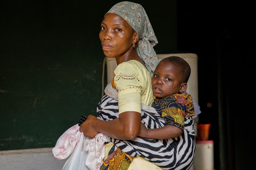
[[[139,35],[137,53],[153,75],[158,58],[154,46],[158,44],[146,11],[140,4],[123,1],[114,5],[107,13],[121,16]]]

